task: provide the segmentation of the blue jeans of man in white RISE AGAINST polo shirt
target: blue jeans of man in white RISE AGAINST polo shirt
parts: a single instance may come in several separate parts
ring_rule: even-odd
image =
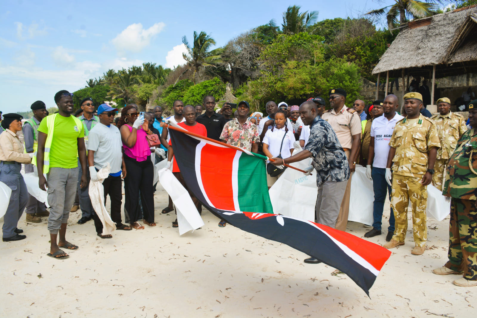
[[[384,177],[386,173],[385,168],[373,167],[371,171],[371,177],[373,178],[373,191],[374,191],[374,203],[373,203],[373,228],[381,230],[381,219],[383,218],[384,201],[386,200],[386,191],[391,200],[391,185],[388,185]],[[391,208],[391,216],[389,217],[388,231],[394,232],[394,213]]]

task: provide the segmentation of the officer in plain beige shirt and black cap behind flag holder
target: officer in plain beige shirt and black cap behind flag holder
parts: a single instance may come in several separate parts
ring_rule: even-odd
[[[358,113],[352,108],[346,107],[346,91],[342,88],[333,88],[329,92],[331,110],[323,113],[322,119],[330,123],[338,140],[343,147],[344,153],[348,158],[350,172],[355,170],[355,161],[361,148],[361,119]],[[350,174],[343,200],[341,202],[340,215],[336,220],[335,228],[346,231],[346,223],[348,222],[348,213],[350,211],[350,193],[351,193],[351,177]]]

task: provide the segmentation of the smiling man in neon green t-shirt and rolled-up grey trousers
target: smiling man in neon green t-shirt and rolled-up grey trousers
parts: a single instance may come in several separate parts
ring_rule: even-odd
[[[81,186],[87,184],[86,148],[84,129],[73,113],[73,94],[60,91],[55,94],[58,113],[44,118],[38,127],[37,167],[39,186],[48,187],[48,204],[51,205],[48,217],[50,231],[50,253],[48,256],[63,259],[69,257],[60,247],[78,249],[78,246],[66,241],[66,224],[76,195],[78,183],[78,161],[83,168]],[[43,175],[46,173],[46,179]],[[48,182],[47,182],[48,180]],[[60,239],[56,242],[58,232]]]

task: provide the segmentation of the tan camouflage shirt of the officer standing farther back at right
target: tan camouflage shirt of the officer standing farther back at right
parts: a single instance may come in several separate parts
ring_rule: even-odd
[[[437,150],[437,159],[449,159],[456,149],[460,136],[467,131],[466,121],[460,114],[449,112],[446,115],[435,114],[431,119],[436,123],[441,141]]]

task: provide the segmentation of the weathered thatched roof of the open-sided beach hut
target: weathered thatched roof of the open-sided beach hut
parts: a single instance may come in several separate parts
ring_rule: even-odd
[[[456,62],[477,64],[476,38],[476,7],[409,22],[384,52],[373,74]]]

